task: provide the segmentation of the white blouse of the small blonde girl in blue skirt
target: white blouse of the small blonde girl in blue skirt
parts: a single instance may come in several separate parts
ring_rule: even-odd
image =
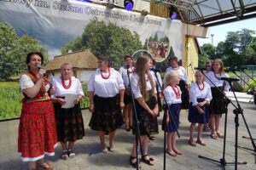
[[[180,90],[180,88],[178,86],[176,86],[177,88],[174,88],[175,90],[178,89],[179,91],[179,94],[180,94],[180,97],[177,99],[176,97],[176,94],[175,92],[173,91],[172,87],[171,86],[167,86],[164,91],[163,91],[163,94],[165,95],[166,97],[166,101],[164,99],[164,103],[166,104],[167,102],[167,105],[172,105],[172,104],[180,104],[182,103],[182,100],[181,100],[181,95],[182,95],[182,91]]]

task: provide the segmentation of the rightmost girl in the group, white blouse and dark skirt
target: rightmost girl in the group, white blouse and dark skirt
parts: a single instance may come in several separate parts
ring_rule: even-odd
[[[224,73],[224,65],[221,59],[214,59],[212,62],[212,71],[209,73],[211,81],[225,94],[229,91],[230,84],[225,83],[223,80],[218,80],[220,77],[229,77]],[[212,128],[212,139],[224,138],[224,135],[218,131],[220,115],[224,114],[224,95],[219,92],[217,88],[210,83],[212,91],[212,101],[209,107],[210,112],[210,126]]]

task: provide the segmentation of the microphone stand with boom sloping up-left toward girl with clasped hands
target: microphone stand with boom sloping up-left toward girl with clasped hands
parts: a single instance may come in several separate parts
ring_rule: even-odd
[[[202,74],[205,76],[205,77],[207,77],[206,76],[206,74],[204,73],[204,71],[203,71],[203,69],[199,69],[201,72],[202,72]],[[209,79],[209,77],[207,77],[207,79],[209,80],[209,82],[212,82],[210,79]],[[213,82],[212,82],[212,85],[215,87],[215,88],[218,88]],[[231,86],[230,86],[231,87]],[[237,162],[237,152],[236,152],[236,162],[227,162],[226,160],[225,160],[225,148],[226,148],[226,133],[227,133],[227,117],[228,117],[228,105],[229,105],[229,103],[231,103],[231,105],[233,105],[235,108],[236,108],[236,110],[238,110],[238,108],[236,107],[236,105],[234,105],[233,103],[232,103],[232,101],[229,99],[229,98],[227,98],[225,95],[224,95],[224,93],[218,88],[218,91],[220,92],[220,94],[222,94],[223,96],[224,96],[224,104],[225,104],[225,108],[224,108],[224,113],[225,113],[225,120],[224,120],[224,145],[223,145],[223,155],[222,155],[222,158],[220,158],[219,159],[219,161],[217,161],[217,160],[213,160],[213,159],[211,159],[211,158],[208,158],[208,157],[205,157],[205,156],[198,156],[199,158],[201,158],[201,159],[206,159],[207,161],[215,161],[215,162],[218,162],[218,163],[220,163],[222,166],[225,166],[225,165],[227,165],[227,164],[235,164],[235,169],[237,168],[237,164],[239,164],[239,165],[242,165],[242,164],[247,164],[247,162],[246,161],[239,161],[239,162]],[[238,133],[238,132],[237,132]]]

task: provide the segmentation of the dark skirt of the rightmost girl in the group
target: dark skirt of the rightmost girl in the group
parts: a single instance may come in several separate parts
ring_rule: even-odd
[[[222,87],[218,87],[221,91]],[[224,114],[224,95],[217,88],[211,88],[212,100],[209,106],[209,113],[221,115]]]

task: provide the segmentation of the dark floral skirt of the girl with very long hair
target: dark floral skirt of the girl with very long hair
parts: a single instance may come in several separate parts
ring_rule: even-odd
[[[148,99],[146,103],[150,109],[154,109],[155,105],[157,105],[157,100],[154,96],[150,96],[150,99]],[[157,117],[150,115],[148,111],[146,111],[143,106],[137,102],[137,99],[135,100],[135,105],[137,111],[137,119],[140,122],[139,128],[141,136],[147,135],[149,137],[151,134],[158,133]],[[135,114],[133,114],[133,116],[135,116]],[[136,119],[133,118],[133,127],[136,127],[134,124],[135,120]],[[133,128],[132,133],[135,133],[135,128]]]

